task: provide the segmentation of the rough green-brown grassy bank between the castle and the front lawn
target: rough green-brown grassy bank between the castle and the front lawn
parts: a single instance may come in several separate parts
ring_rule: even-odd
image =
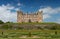
[[[12,23],[7,22],[0,24],[0,29],[52,29],[60,30],[60,24],[54,22],[43,22],[43,23]]]

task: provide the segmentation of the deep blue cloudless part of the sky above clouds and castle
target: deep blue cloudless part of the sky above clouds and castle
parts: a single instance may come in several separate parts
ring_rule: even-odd
[[[53,8],[60,6],[60,0],[0,0],[0,5],[11,4],[12,6],[18,7],[17,3],[21,3],[21,10],[27,11],[37,11],[41,6],[51,6]]]

